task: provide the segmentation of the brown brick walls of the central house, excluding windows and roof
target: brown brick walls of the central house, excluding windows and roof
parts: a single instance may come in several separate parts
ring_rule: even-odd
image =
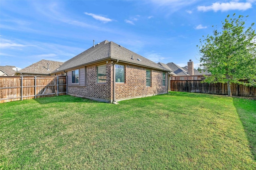
[[[102,64],[106,64],[106,83],[97,83],[97,66]],[[79,84],[72,84],[72,70],[68,71],[68,95],[112,103],[114,100],[121,101],[167,93],[167,82],[166,86],[162,85],[162,71],[150,69],[151,86],[146,87],[146,69],[148,68],[126,63],[118,64],[124,65],[125,82],[115,83],[115,85],[113,84],[114,63],[111,61],[80,67]]]

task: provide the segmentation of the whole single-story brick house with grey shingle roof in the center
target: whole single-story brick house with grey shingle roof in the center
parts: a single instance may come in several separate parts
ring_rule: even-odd
[[[114,42],[98,43],[51,75],[68,76],[68,95],[107,103],[167,93],[169,70]]]

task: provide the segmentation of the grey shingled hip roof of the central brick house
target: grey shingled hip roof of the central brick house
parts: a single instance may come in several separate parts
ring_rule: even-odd
[[[146,59],[145,57],[122,47],[121,45],[105,40],[66,61],[52,74],[108,59],[115,59],[126,63],[169,71],[161,65],[154,63],[153,61],[150,61],[149,59]]]

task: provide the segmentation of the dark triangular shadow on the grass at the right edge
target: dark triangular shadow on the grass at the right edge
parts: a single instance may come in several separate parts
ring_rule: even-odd
[[[256,100],[233,98],[233,104],[244,127],[248,147],[256,161]]]

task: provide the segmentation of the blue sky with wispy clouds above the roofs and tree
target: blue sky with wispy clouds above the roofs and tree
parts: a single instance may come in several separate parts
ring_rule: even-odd
[[[197,67],[200,38],[234,13],[250,26],[256,0],[0,0],[0,65],[64,62],[108,40],[156,63]]]

